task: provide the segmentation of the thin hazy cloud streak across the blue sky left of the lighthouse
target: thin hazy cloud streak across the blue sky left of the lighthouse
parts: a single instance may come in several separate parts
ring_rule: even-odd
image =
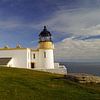
[[[21,21],[20,19],[16,19],[16,18],[14,19],[13,17],[6,20],[0,19],[0,29],[2,30],[16,30],[17,31],[18,29],[28,30],[32,28],[35,29],[36,26],[35,24],[31,22],[27,23],[27,22]]]

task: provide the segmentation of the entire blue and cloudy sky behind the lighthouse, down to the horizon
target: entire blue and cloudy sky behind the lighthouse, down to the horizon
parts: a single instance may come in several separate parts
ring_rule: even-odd
[[[0,0],[0,47],[36,47],[44,25],[56,60],[100,62],[100,0]]]

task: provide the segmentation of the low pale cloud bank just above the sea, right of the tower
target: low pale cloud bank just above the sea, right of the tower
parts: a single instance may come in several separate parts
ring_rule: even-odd
[[[60,61],[99,61],[100,40],[67,38],[55,44],[55,59]]]

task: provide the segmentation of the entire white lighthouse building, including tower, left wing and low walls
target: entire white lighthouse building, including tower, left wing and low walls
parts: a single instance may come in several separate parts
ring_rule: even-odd
[[[63,73],[65,67],[59,66],[59,63],[54,63],[53,49],[51,33],[44,26],[43,31],[39,34],[39,46],[36,50],[22,48],[19,45],[16,48],[7,46],[0,48],[0,66]]]

